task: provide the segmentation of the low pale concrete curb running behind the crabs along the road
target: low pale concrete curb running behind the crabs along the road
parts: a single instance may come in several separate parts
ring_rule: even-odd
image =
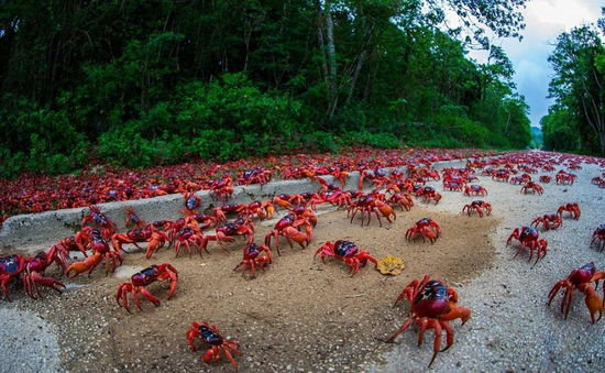
[[[466,161],[437,162],[432,165],[435,169],[442,169],[446,166],[463,166]],[[386,167],[385,167],[386,168]],[[332,176],[321,176],[328,183],[334,182]],[[343,190],[358,189],[360,174],[352,172],[346,179]],[[370,180],[364,180],[364,186],[370,186]],[[250,204],[254,200],[267,200],[279,194],[301,194],[305,191],[317,191],[320,184],[308,178],[298,180],[272,182],[263,186],[237,186],[229,204]],[[196,193],[201,198],[201,206],[198,211],[209,212],[212,208],[220,206],[219,199],[208,191]],[[124,231],[125,207],[131,206],[136,215],[146,222],[157,220],[176,220],[183,215],[179,210],[184,206],[183,196],[168,195],[147,199],[117,201],[99,204],[98,207],[109,219],[118,224],[119,231]],[[89,212],[88,207],[46,211],[41,213],[18,215],[7,219],[0,230],[0,248],[11,253],[32,254],[40,250],[47,250],[53,243],[66,237],[75,234],[80,230],[81,219]]]

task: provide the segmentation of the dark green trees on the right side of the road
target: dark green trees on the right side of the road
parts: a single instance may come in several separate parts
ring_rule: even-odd
[[[602,8],[605,15],[605,8]],[[601,33],[601,35],[600,35]],[[605,17],[561,33],[549,56],[556,105],[540,121],[547,150],[605,155]]]

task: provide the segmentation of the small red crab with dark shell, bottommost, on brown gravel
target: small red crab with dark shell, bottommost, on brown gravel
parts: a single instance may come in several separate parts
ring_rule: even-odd
[[[205,362],[209,362],[212,360],[218,361],[221,356],[222,351],[227,359],[229,359],[231,365],[233,365],[235,371],[238,370],[238,363],[233,359],[233,355],[231,355],[231,351],[241,356],[242,353],[240,352],[240,350],[237,349],[240,347],[240,343],[222,338],[219,329],[217,329],[217,327],[215,327],[213,325],[209,325],[208,321],[204,321],[201,325],[194,321],[193,328],[187,330],[187,340],[189,341],[189,347],[191,348],[191,350],[197,351],[196,344],[194,343],[195,338],[200,338],[204,342],[211,345],[211,348],[206,351],[204,356],[201,356]]]

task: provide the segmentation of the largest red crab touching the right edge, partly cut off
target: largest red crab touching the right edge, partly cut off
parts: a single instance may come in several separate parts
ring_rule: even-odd
[[[596,272],[594,262],[585,264],[580,268],[573,270],[565,279],[561,279],[560,282],[554,284],[552,289],[550,289],[548,305],[550,306],[550,303],[552,301],[552,299],[554,299],[554,296],[557,295],[557,293],[559,293],[559,289],[565,288],[565,292],[563,293],[563,298],[561,299],[561,312],[565,314],[564,318],[566,319],[571,308],[573,292],[578,289],[582,294],[584,294],[584,301],[586,303],[586,307],[591,312],[591,320],[593,321],[593,323],[595,323],[596,321],[601,320],[601,317],[603,316],[603,300],[598,297],[598,295],[596,295],[595,288],[592,286],[592,283],[594,283],[595,287],[597,287],[598,282],[604,278],[605,271]],[[603,295],[605,297],[605,293]],[[596,312],[598,312],[598,318],[595,320],[594,317]]]

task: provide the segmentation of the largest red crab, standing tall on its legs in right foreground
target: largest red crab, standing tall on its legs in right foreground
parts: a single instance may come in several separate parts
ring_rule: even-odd
[[[440,351],[448,350],[453,344],[453,329],[447,321],[461,319],[462,325],[464,325],[471,318],[471,310],[458,306],[458,292],[454,288],[443,285],[441,281],[430,279],[429,275],[425,275],[421,282],[415,279],[409,283],[395,301],[395,305],[403,298],[407,298],[411,303],[411,315],[386,342],[393,342],[413,321],[420,327],[418,345],[422,344],[425,331],[435,329],[433,353],[428,365],[430,367],[437,354]],[[446,330],[447,345],[443,350],[440,350],[441,330],[443,329]]]

